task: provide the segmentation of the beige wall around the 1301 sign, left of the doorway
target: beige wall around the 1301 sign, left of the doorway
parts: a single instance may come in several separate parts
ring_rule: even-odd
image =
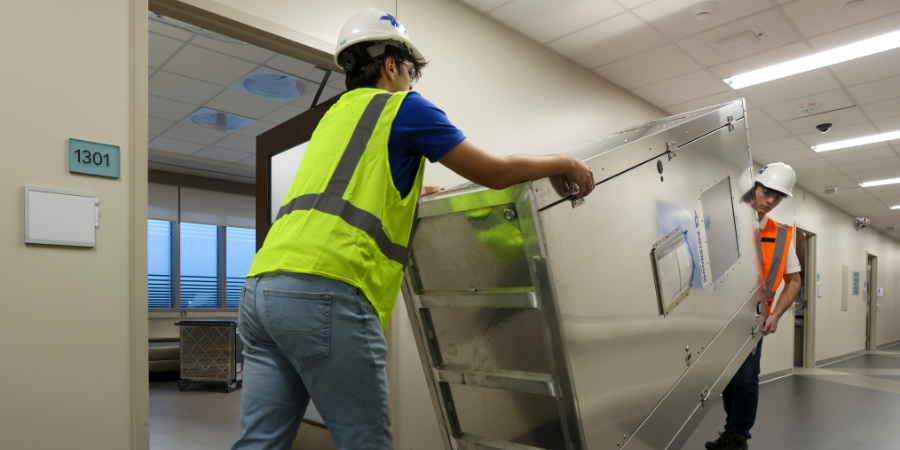
[[[140,377],[132,367],[132,324],[141,313],[131,304],[132,184],[140,166],[132,142],[131,5],[4,4],[3,448],[127,449],[145,435],[134,427],[146,422],[146,414],[134,414],[146,395],[133,393]],[[121,146],[121,178],[70,174],[69,138]],[[96,248],[26,246],[25,185],[99,197]]]

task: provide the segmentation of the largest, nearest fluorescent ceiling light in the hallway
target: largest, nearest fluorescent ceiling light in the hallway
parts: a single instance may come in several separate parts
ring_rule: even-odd
[[[735,75],[724,81],[734,89],[741,89],[747,86],[765,83],[766,81],[777,80],[779,78],[809,72],[810,70],[842,63],[844,61],[850,61],[851,59],[862,58],[863,56],[893,50],[898,47],[900,47],[900,31],[894,31],[893,33],[882,34],[881,36],[855,42],[843,47],[804,56],[803,58],[797,58],[793,61]]]

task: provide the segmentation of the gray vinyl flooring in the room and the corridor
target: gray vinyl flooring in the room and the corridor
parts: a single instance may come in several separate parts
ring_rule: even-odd
[[[150,383],[150,448],[228,449],[237,437],[240,390]],[[900,449],[900,348],[850,358],[764,383],[751,449]],[[721,397],[682,450],[702,450],[725,424]],[[295,443],[294,448],[302,448]],[[439,450],[439,449],[414,449]]]

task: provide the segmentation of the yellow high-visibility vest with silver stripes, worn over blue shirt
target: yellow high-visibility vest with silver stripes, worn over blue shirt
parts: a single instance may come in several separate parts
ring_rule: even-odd
[[[344,281],[366,295],[387,328],[425,172],[422,157],[401,197],[388,139],[406,94],[354,89],[328,110],[248,276],[295,272]]]

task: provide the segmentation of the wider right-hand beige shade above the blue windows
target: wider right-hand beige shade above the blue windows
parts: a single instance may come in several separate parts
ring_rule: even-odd
[[[182,187],[181,221],[224,227],[256,228],[256,198]]]

